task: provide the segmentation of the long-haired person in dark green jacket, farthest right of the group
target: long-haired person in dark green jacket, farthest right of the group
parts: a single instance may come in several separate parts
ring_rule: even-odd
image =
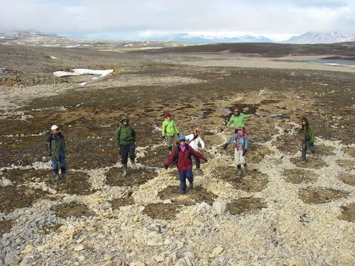
[[[302,117],[300,128],[297,128],[298,135],[302,142],[302,162],[307,162],[307,148],[310,147],[312,154],[315,154],[315,127],[308,122],[307,117]]]

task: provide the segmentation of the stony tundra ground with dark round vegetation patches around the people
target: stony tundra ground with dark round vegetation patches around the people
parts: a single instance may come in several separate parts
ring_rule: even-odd
[[[0,265],[354,265],[354,68],[253,51],[0,50]],[[53,75],[74,68],[114,72]],[[219,131],[236,106],[283,115],[247,121],[241,177],[221,148],[232,131]],[[166,111],[206,144],[184,196],[176,169],[163,169]],[[126,178],[113,140],[124,114],[138,132]],[[302,116],[317,136],[306,164]],[[60,183],[44,149],[53,124],[69,149]]]

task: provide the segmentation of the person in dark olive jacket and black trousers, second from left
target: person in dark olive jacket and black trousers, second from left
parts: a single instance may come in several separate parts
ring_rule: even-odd
[[[136,167],[136,131],[129,125],[129,118],[122,116],[121,124],[119,124],[115,131],[116,145],[119,147],[119,155],[121,155],[121,164],[123,168],[123,176],[127,175],[128,157],[131,160],[131,166]]]

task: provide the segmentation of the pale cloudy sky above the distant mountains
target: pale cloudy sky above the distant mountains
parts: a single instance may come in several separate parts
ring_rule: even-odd
[[[0,0],[0,31],[156,40],[178,33],[232,37],[355,31],[354,0]]]

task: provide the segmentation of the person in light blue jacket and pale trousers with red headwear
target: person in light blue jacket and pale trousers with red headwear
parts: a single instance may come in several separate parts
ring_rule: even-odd
[[[237,174],[241,175],[241,165],[244,165],[244,171],[248,171],[245,156],[249,148],[249,136],[245,133],[244,128],[239,126],[236,128],[238,132],[234,144],[234,161],[236,162]]]

